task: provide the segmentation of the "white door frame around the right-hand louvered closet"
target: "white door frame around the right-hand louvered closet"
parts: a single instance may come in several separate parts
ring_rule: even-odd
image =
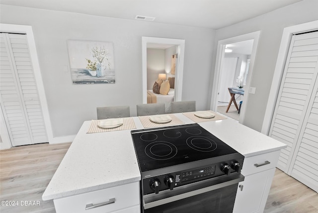
[[[292,36],[310,30],[318,30],[318,20],[284,28],[261,129],[263,134],[269,134]]]

